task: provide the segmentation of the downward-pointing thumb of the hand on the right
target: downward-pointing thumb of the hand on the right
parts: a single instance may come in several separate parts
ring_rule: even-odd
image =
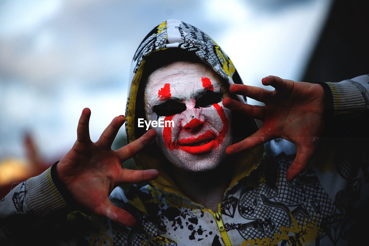
[[[294,180],[307,167],[313,153],[313,147],[297,146],[296,158],[286,173],[287,181]]]

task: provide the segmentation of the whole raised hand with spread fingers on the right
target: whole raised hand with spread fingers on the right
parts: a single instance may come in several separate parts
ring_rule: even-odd
[[[225,98],[223,105],[235,112],[263,121],[263,127],[241,142],[226,149],[228,155],[252,149],[275,138],[284,138],[297,147],[296,158],[287,170],[293,180],[307,166],[319,137],[324,132],[324,89],[320,84],[285,80],[276,76],[262,79],[270,91],[255,86],[232,84],[230,92],[265,103],[265,106],[243,104]]]

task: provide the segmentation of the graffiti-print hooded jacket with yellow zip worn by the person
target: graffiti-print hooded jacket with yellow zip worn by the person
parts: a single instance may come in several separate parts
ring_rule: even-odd
[[[196,55],[229,84],[242,83],[231,60],[204,32],[178,20],[164,21],[142,41],[132,62],[128,142],[142,134],[135,119],[142,115],[147,57],[168,49]],[[142,187],[117,187],[110,195],[115,205],[135,216],[136,226],[128,228],[87,211],[74,211],[77,207],[58,180],[54,164],[0,201],[1,245],[31,241],[39,245],[356,245],[365,236],[368,226],[363,225],[369,218],[368,82],[365,75],[321,83],[331,131],[307,169],[292,182],[285,176],[295,146],[282,139],[270,141],[234,160],[237,165],[224,199],[217,211],[211,211],[175,185],[164,168],[168,161],[152,143],[134,160],[138,169],[158,169],[159,178]],[[256,124],[246,121],[239,127],[250,129],[244,132],[247,135]],[[238,130],[234,132],[242,132]]]

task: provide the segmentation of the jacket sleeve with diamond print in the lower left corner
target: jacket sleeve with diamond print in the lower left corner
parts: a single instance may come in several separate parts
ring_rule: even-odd
[[[68,207],[54,183],[55,169],[56,163],[39,176],[16,186],[0,201],[0,242],[11,241],[25,225],[35,225],[40,219]]]

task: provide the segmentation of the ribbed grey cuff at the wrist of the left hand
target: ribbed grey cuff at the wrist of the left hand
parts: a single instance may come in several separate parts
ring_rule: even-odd
[[[51,167],[28,180],[28,200],[36,215],[46,216],[67,206],[51,178]]]

